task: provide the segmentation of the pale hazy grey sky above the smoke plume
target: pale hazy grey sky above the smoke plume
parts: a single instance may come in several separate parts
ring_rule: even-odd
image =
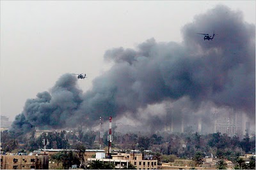
[[[242,11],[255,24],[255,1],[0,2],[1,115],[11,120],[62,74],[86,73],[79,87],[90,89],[111,66],[106,50],[135,48],[150,38],[182,42],[180,29],[216,4]]]

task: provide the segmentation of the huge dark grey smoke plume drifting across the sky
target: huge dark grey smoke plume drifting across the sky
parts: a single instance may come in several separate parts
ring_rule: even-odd
[[[218,35],[204,41],[197,32]],[[33,126],[92,125],[102,115],[138,117],[140,108],[186,97],[180,107],[198,110],[202,103],[214,103],[255,119],[255,25],[220,5],[184,25],[182,35],[182,43],[151,38],[136,49],[108,50],[104,59],[114,64],[93,80],[92,90],[83,94],[76,77],[65,74],[51,92],[28,99],[22,114]],[[179,109],[172,111],[175,118],[174,113]]]

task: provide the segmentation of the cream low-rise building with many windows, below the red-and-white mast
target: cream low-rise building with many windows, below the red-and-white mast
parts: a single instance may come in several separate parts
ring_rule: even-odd
[[[142,153],[111,153],[111,159],[89,158],[88,161],[100,160],[100,162],[112,162],[116,168],[128,167],[128,164],[137,169],[157,169],[157,160],[142,159]]]

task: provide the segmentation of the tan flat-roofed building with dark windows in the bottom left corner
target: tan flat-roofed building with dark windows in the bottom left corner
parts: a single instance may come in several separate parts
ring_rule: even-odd
[[[1,155],[1,169],[49,169],[48,155]]]

